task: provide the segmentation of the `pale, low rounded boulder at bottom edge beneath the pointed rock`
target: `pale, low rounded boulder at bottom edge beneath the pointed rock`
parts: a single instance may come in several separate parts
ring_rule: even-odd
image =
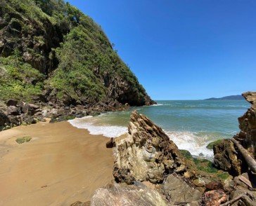
[[[98,188],[91,198],[91,206],[109,205],[165,206],[172,204],[167,202],[165,197],[160,195],[158,191],[138,183],[137,185],[108,184],[103,188]]]

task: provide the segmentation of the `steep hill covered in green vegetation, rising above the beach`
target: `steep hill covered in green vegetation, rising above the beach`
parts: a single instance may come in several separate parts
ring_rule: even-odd
[[[153,104],[89,16],[63,0],[1,0],[0,100]]]

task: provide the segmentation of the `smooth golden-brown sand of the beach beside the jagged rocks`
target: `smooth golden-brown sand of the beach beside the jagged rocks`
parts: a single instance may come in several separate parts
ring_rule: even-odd
[[[32,137],[18,144],[18,137]],[[0,205],[70,205],[113,179],[108,138],[68,122],[0,132]]]

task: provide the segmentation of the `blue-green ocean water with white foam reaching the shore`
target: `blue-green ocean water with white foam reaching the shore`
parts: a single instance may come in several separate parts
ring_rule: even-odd
[[[162,100],[157,103],[75,118],[69,122],[77,128],[89,130],[92,135],[118,137],[127,132],[129,116],[136,109],[160,126],[179,149],[186,149],[193,156],[212,159],[213,151],[206,148],[207,144],[236,135],[238,117],[250,107],[245,100]]]

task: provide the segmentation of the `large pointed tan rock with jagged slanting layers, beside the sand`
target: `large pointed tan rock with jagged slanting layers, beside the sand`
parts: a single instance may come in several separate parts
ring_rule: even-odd
[[[176,144],[151,120],[132,112],[126,138],[117,139],[113,175],[115,181],[160,182],[165,174],[184,172],[184,158]]]

